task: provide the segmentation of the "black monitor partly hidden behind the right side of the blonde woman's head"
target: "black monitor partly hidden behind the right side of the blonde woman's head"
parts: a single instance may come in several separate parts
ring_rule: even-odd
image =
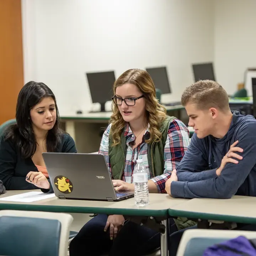
[[[155,87],[157,89],[160,89],[162,94],[171,93],[171,88],[169,85],[167,70],[165,66],[158,68],[146,68],[146,71],[151,76]]]

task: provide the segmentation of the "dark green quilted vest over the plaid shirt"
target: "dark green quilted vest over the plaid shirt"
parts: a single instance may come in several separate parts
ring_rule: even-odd
[[[164,173],[164,147],[165,142],[168,136],[168,130],[170,123],[176,117],[167,116],[165,121],[160,127],[160,132],[162,134],[162,139],[159,142],[151,142],[148,145],[148,164],[149,170],[153,177],[162,175]],[[121,180],[122,174],[124,172],[125,160],[126,160],[126,137],[124,137],[124,130],[121,134],[121,144],[112,147],[113,139],[111,132],[109,135],[109,147],[108,147],[108,156],[110,159],[110,166],[114,180]],[[175,223],[178,229],[187,228],[193,226],[196,223],[188,220],[187,218],[175,219]]]

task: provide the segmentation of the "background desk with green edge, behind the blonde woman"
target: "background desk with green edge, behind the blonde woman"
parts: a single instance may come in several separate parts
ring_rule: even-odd
[[[166,106],[166,110],[170,116],[188,122],[186,111],[182,105]],[[60,126],[75,140],[79,153],[91,153],[98,151],[101,131],[107,128],[111,114],[112,111],[65,114],[60,116]]]

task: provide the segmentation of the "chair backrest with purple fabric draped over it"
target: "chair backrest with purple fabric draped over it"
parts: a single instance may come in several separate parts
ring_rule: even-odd
[[[254,231],[214,229],[186,230],[182,235],[176,256],[203,255],[207,247],[236,238],[240,235],[248,239],[256,238],[256,232]]]

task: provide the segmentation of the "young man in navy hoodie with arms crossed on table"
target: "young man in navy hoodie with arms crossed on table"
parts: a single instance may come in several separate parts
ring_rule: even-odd
[[[187,87],[181,103],[195,134],[166,192],[180,198],[256,196],[256,119],[230,111],[228,95],[215,81]]]

